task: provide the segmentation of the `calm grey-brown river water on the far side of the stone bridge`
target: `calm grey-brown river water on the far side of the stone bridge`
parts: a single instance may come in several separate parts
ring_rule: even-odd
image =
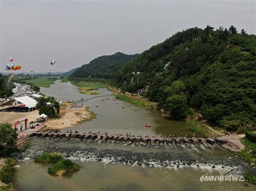
[[[45,95],[50,95],[59,100],[80,100],[81,98],[94,97],[95,95],[80,94],[75,86],[70,82],[62,83],[56,82],[50,88],[41,88],[41,92]],[[99,89],[100,95],[111,95],[111,91],[103,88]],[[82,103],[79,103],[82,104]],[[131,133],[132,135],[142,136],[183,136],[191,132],[188,131],[187,125],[184,122],[170,121],[163,116],[161,112],[153,109],[143,109],[124,102],[116,100],[114,97],[103,97],[95,100],[83,102],[84,105],[90,107],[90,110],[97,115],[95,119],[90,122],[79,124],[72,129],[90,131],[109,131],[117,134]],[[96,108],[96,105],[98,108]],[[124,108],[123,108],[124,107]],[[151,124],[151,128],[146,128],[145,124]],[[61,131],[70,130],[66,128]],[[201,137],[198,133],[198,136]]]

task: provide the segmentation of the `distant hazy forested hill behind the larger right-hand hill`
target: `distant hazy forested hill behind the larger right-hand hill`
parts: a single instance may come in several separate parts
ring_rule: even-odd
[[[71,77],[98,77],[109,79],[114,73],[122,67],[126,62],[132,60],[137,54],[127,55],[117,52],[113,55],[104,55],[93,59],[87,65],[83,65],[76,69]]]

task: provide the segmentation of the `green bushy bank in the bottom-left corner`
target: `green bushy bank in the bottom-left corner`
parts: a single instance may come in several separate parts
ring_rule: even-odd
[[[14,181],[14,173],[16,165],[16,161],[11,158],[6,158],[4,161],[4,165],[0,170],[0,183],[4,183],[0,190],[11,190]]]

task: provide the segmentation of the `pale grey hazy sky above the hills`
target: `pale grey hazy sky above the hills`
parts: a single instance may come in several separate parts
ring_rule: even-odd
[[[255,34],[255,1],[1,1],[1,66],[67,71],[101,55],[141,53],[190,27]]]

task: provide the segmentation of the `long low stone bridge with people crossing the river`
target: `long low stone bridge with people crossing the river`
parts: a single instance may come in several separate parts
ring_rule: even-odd
[[[33,138],[44,138],[51,140],[77,140],[80,142],[96,142],[96,143],[117,143],[126,145],[143,145],[143,146],[199,146],[204,147],[217,146],[227,144],[227,140],[219,138],[156,138],[142,136],[123,136],[123,135],[91,135],[82,133],[49,133],[49,132],[33,132],[29,135]]]

